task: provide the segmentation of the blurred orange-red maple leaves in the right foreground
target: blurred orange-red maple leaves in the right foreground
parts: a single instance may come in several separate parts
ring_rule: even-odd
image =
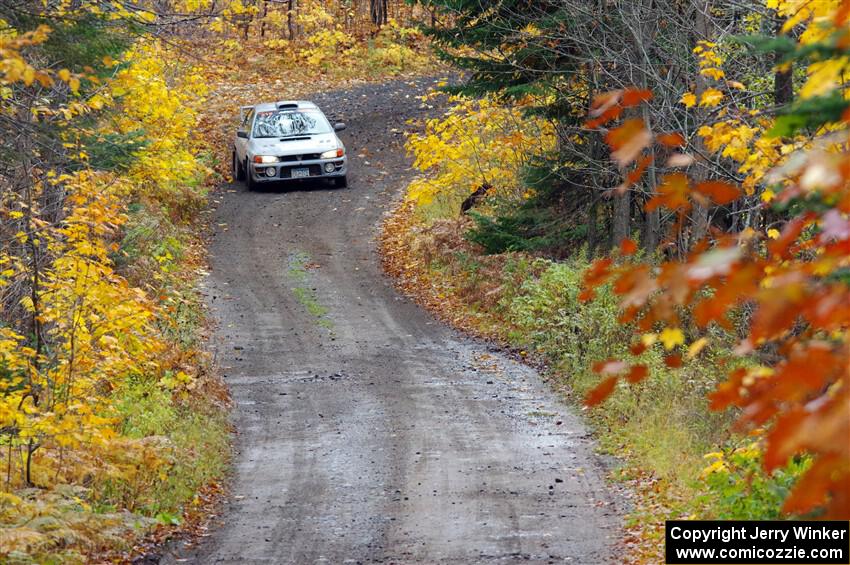
[[[850,18],[850,2],[842,8],[842,21]],[[618,119],[622,109],[648,100],[639,90],[609,93],[594,102],[592,115],[598,123]],[[658,148],[641,156],[653,139]],[[667,167],[685,167],[689,156],[680,153],[683,136],[663,133],[653,137],[643,120],[632,118],[612,128],[606,142],[612,158],[622,168],[637,160],[616,190],[625,191],[643,178],[653,158],[666,154]],[[839,148],[840,149],[840,148]],[[671,153],[673,154],[671,157]],[[805,153],[801,154],[805,157]],[[814,165],[822,165],[811,157]],[[731,330],[728,314],[746,306],[749,325],[734,348],[737,356],[749,356],[748,368],[732,370],[709,395],[712,410],[735,406],[739,424],[770,426],[765,446],[765,468],[785,465],[789,458],[809,454],[810,470],[786,500],[785,512],[807,513],[824,509],[825,515],[850,516],[850,285],[842,276],[850,257],[850,155],[830,154],[826,159],[832,174],[828,186],[813,191],[811,179],[789,175],[780,202],[805,196],[808,210],[784,211],[790,219],[778,236],[760,236],[750,229],[719,236],[710,232],[699,242],[690,242],[686,260],[661,264],[633,261],[597,261],[584,277],[582,299],[592,297],[594,288],[613,281],[619,297],[620,321],[633,324],[650,339],[635,341],[630,351],[642,355],[656,339],[659,327],[685,327],[692,320],[697,328],[719,324]],[[807,170],[804,164],[800,171]],[[811,175],[809,175],[811,176]],[[799,182],[795,183],[795,180]],[[822,183],[821,183],[822,184]],[[684,172],[661,177],[646,210],[660,207],[676,212],[671,241],[688,232],[688,212],[693,202],[703,207],[726,206],[741,198],[741,190],[725,181],[692,183]],[[784,199],[784,200],[783,200]],[[681,239],[677,239],[681,241]],[[620,256],[632,256],[637,246],[631,240],[620,244]],[[687,313],[692,314],[688,316]],[[735,317],[736,320],[740,316]],[[688,344],[684,344],[687,346]],[[730,344],[731,346],[731,344]],[[688,358],[699,351],[699,340],[688,347]],[[769,356],[759,357],[761,348]],[[770,359],[770,366],[757,366]],[[679,368],[679,354],[664,358],[667,367]],[[718,367],[720,363],[718,363]],[[618,379],[639,383],[648,375],[644,364],[627,365],[608,360],[594,367],[604,378],[586,398],[588,406],[602,402],[615,389]]]

